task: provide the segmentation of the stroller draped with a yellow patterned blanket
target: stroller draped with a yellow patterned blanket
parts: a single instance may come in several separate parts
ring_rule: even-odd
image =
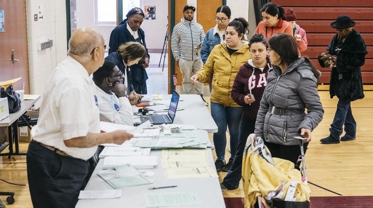
[[[249,171],[250,173],[247,172],[246,175],[250,175],[250,176],[248,176],[246,178],[246,180],[244,179],[245,207],[254,207],[254,208],[266,208],[266,207],[267,208],[268,207],[269,208],[309,208],[310,203],[309,203],[308,200],[309,200],[310,190],[309,190],[309,187],[307,186],[305,156],[304,156],[305,154],[304,154],[304,146],[303,146],[303,139],[304,138],[299,137],[301,155],[298,158],[297,165],[295,165],[295,167],[297,167],[297,166],[299,167],[300,164],[303,163],[302,168],[293,169],[290,166],[287,166],[286,168],[288,168],[287,170],[290,171],[290,172],[286,173],[286,174],[289,174],[289,175],[286,175],[285,172],[284,172],[284,170],[286,168],[285,169],[278,169],[278,168],[281,168],[281,167],[277,166],[278,164],[280,165],[280,163],[284,163],[282,161],[286,161],[286,160],[282,160],[282,159],[278,159],[278,158],[273,158],[272,159],[271,154],[267,153],[267,150],[265,149],[264,142],[263,142],[262,139],[258,139],[258,142],[256,143],[256,146],[259,145],[259,146],[262,146],[262,147],[256,147],[255,146],[254,136],[252,136],[252,135],[249,136],[248,141],[246,143],[245,151],[244,151],[244,153],[249,154],[248,159],[246,160],[246,158],[245,158],[244,162],[248,161],[248,163],[250,164],[250,168],[246,167],[246,168],[250,169],[250,171]],[[250,139],[250,137],[252,137],[252,138]],[[251,144],[248,144],[250,142],[251,142]],[[258,151],[259,154],[247,153],[248,149],[249,149],[249,151],[252,151],[252,152]],[[268,155],[266,156],[266,154],[268,154]],[[254,157],[255,155],[259,155],[259,156],[256,156],[256,157],[259,157],[259,159],[255,158]],[[250,160],[252,160],[252,161],[250,161]],[[260,160],[264,161],[264,163],[262,162],[262,164],[261,164],[262,169],[255,169],[256,167],[260,166],[260,165],[258,166],[257,164],[255,164],[255,163],[259,163],[258,161],[260,161]],[[274,161],[276,162],[276,164],[275,164]],[[291,162],[286,161],[285,163],[289,164]],[[244,173],[244,168],[245,168],[244,165],[245,164],[243,163],[242,173]],[[292,167],[294,167],[294,165],[292,165]],[[278,172],[275,172],[276,168],[278,169]],[[289,169],[291,169],[291,170],[289,170]],[[261,173],[262,170],[264,170],[263,173]],[[266,181],[267,178],[265,178],[265,176],[268,176],[268,174],[271,174],[271,175],[273,174],[273,176],[271,176],[271,178],[268,178],[268,181]],[[259,175],[263,175],[264,178],[259,176]],[[277,176],[278,176],[278,178],[281,178],[281,179],[278,179],[278,181],[273,181],[273,180],[277,180]],[[295,177],[293,177],[293,176],[295,176]],[[255,178],[257,178],[257,179],[255,179]],[[256,184],[255,184],[255,182],[256,182],[255,180],[258,181]],[[245,182],[247,183],[246,186],[245,186]],[[272,186],[271,187],[263,187],[263,186],[261,186],[261,184],[262,185],[263,184],[264,185],[270,184]],[[277,184],[278,184],[278,186],[276,186]],[[281,188],[278,188],[278,187],[281,187]],[[270,188],[271,188],[272,191],[268,191]],[[286,188],[287,188],[287,190],[286,190]],[[248,190],[251,190],[251,191],[248,191]],[[303,196],[306,196],[306,197],[299,197],[299,194],[302,191],[304,192]],[[248,197],[247,197],[247,194],[249,194]],[[298,194],[298,195],[296,195],[296,194]],[[255,196],[255,198],[253,198],[253,195]],[[284,195],[286,195],[285,198],[284,198]],[[246,200],[248,200],[249,202],[246,203]],[[250,201],[252,201],[252,202],[250,202]],[[253,205],[254,201],[256,201],[256,203]]]

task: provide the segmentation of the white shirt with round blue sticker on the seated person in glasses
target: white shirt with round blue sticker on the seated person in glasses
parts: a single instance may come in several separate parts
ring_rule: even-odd
[[[96,94],[100,109],[100,120],[123,125],[134,125],[133,110],[126,97],[111,95],[96,86]]]

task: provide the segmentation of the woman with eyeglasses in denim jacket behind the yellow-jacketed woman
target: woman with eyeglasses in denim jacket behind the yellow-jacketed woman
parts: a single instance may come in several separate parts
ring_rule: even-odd
[[[219,45],[224,43],[225,40],[225,30],[231,20],[231,9],[228,6],[220,6],[216,10],[216,26],[211,28],[207,31],[206,36],[204,36],[202,47],[201,47],[201,58],[203,64],[206,63],[208,55],[210,55],[212,49],[215,45]],[[207,80],[207,83],[210,85],[210,93],[211,93],[211,82],[212,82],[212,75]]]

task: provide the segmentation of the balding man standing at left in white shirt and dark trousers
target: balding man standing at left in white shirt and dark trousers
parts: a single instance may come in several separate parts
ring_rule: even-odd
[[[68,57],[52,74],[32,129],[27,174],[34,208],[74,208],[85,187],[97,146],[122,144],[133,134],[100,133],[95,84],[89,77],[104,62],[104,39],[90,28],[76,30]]]

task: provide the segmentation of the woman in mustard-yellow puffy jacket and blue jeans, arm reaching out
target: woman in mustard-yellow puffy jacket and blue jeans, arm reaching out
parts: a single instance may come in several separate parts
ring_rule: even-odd
[[[233,101],[231,91],[239,67],[251,57],[249,45],[242,41],[245,32],[248,31],[248,25],[249,23],[242,17],[230,22],[225,31],[226,43],[216,45],[203,68],[190,77],[194,82],[206,82],[208,77],[214,73],[210,101],[211,116],[218,126],[218,132],[214,133],[213,137],[217,155],[215,161],[217,171],[228,172],[236,155],[242,109]],[[229,162],[225,163],[227,126],[230,135],[231,157]]]

